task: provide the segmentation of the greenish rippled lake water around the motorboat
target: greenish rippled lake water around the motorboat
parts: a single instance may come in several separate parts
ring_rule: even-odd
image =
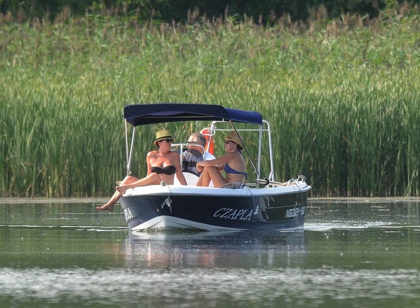
[[[420,307],[420,199],[311,199],[303,231],[133,233],[0,200],[0,307]]]

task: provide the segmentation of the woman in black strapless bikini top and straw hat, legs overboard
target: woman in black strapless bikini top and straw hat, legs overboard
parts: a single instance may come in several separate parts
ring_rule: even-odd
[[[132,176],[126,176],[115,187],[115,193],[102,206],[97,206],[96,209],[100,211],[112,211],[115,203],[129,188],[137,186],[158,185],[162,181],[166,184],[173,184],[173,179],[176,177],[182,185],[186,185],[185,178],[182,174],[179,154],[170,150],[172,141],[168,130],[163,129],[157,132],[156,140],[153,144],[157,146],[157,151],[150,151],[147,153],[147,175],[142,179],[137,179]]]

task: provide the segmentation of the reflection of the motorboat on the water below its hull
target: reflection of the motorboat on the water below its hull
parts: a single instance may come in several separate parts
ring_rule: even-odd
[[[305,262],[303,231],[130,232],[121,250],[128,267],[273,268]]]

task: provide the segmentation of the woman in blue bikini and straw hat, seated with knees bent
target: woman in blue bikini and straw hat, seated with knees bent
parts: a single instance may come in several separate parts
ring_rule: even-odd
[[[226,154],[213,160],[197,162],[196,168],[202,172],[198,178],[197,186],[208,186],[210,181],[213,182],[214,187],[222,187],[230,182],[245,182],[247,177],[245,161],[240,152],[242,142],[234,131],[224,137],[224,140]],[[221,171],[226,173],[226,178],[220,174]]]

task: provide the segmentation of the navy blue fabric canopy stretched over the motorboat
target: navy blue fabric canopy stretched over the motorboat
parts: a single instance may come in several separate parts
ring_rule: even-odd
[[[132,126],[179,121],[222,120],[262,125],[262,116],[255,111],[192,103],[127,105],[124,107],[124,119]]]

